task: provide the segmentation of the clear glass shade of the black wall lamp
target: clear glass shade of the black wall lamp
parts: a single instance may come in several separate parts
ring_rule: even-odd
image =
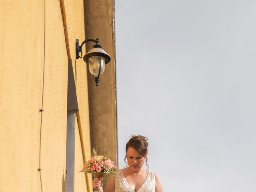
[[[101,75],[105,70],[105,59],[100,56],[90,57],[89,70],[90,70],[90,73],[93,74],[94,76],[98,76],[99,70],[100,70],[100,75]]]

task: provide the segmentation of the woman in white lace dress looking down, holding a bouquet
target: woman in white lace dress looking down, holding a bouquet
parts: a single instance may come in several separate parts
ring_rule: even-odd
[[[162,184],[158,175],[143,168],[148,154],[148,138],[138,135],[132,136],[126,144],[128,167],[118,170],[115,176],[110,176],[104,192],[162,192]],[[93,188],[103,192],[103,179],[94,178]]]

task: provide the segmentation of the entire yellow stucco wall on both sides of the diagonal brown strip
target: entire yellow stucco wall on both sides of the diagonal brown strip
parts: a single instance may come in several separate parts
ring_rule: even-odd
[[[64,3],[84,146],[89,156],[86,65],[82,59],[76,62],[74,52],[75,39],[85,38],[83,1]],[[0,191],[41,191],[39,110],[43,99],[42,188],[64,192],[68,56],[60,1],[46,1],[46,5],[44,0],[1,1],[0,16]],[[76,125],[75,188],[84,192],[79,142]]]

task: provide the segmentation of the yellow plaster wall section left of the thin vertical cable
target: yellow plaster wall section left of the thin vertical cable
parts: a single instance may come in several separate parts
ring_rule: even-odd
[[[40,0],[0,2],[1,192],[37,191],[40,182],[43,7]]]

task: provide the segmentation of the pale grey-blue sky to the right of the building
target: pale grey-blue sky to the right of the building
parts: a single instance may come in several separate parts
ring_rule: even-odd
[[[165,192],[255,192],[256,1],[116,0],[118,158]]]

